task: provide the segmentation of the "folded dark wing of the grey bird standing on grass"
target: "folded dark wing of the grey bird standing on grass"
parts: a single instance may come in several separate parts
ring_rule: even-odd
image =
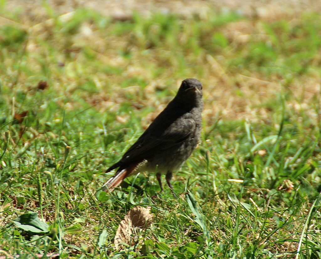
[[[153,127],[151,126],[126,151],[122,159],[109,167],[106,172],[122,165],[140,163],[153,156],[157,151],[167,149],[184,141],[189,134],[195,131],[196,123],[191,119],[178,119],[161,133],[152,129]]]

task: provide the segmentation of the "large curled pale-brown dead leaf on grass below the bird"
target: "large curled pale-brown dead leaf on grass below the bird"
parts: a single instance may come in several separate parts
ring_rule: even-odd
[[[137,206],[131,209],[120,222],[114,238],[115,248],[120,249],[121,243],[134,245],[137,240],[137,228],[144,229],[152,223],[151,207]]]

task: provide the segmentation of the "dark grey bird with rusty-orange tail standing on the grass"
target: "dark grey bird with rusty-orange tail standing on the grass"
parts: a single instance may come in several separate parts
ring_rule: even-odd
[[[176,96],[155,118],[122,158],[111,165],[106,173],[116,173],[103,186],[113,191],[132,173],[148,171],[156,173],[163,192],[161,175],[176,197],[171,184],[173,172],[178,171],[199,144],[202,128],[203,86],[195,78],[182,81]]]

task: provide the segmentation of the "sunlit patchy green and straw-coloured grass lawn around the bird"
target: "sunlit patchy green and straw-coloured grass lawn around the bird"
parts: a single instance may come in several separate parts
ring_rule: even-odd
[[[321,15],[267,23],[236,13],[134,14],[119,22],[79,9],[62,21],[49,8],[51,22],[28,28],[16,13],[2,15],[18,22],[0,27],[2,251],[321,258]],[[161,193],[144,172],[96,193],[112,175],[105,169],[186,77],[203,82],[205,111],[201,144],[173,179],[180,197]],[[137,205],[152,207],[152,225],[115,251],[118,225]],[[47,234],[13,224],[30,211]]]

